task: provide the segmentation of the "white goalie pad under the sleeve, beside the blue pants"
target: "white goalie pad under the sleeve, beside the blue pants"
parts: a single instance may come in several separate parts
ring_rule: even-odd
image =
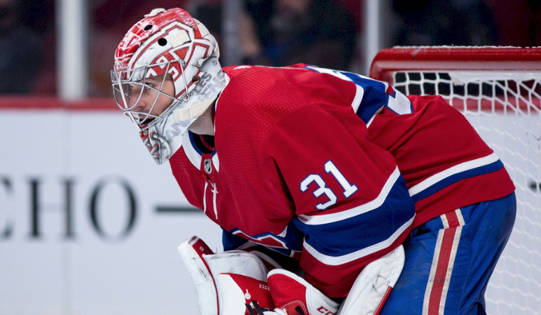
[[[340,315],[379,314],[404,268],[404,247],[367,264],[344,300]]]

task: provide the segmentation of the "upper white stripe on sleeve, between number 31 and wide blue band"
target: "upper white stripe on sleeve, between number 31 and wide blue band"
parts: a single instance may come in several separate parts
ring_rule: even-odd
[[[344,210],[339,213],[329,213],[325,215],[299,215],[299,220],[301,220],[301,222],[303,222],[304,224],[308,224],[308,225],[327,224],[331,222],[347,220],[350,217],[362,215],[363,213],[367,213],[371,210],[377,209],[381,205],[383,205],[383,203],[387,199],[387,196],[390,190],[395,185],[395,182],[399,179],[399,177],[400,177],[400,171],[398,170],[398,167],[397,167],[389,176],[387,182],[385,182],[385,185],[383,185],[383,188],[381,189],[381,192],[376,197],[376,199],[369,201],[367,203],[364,203],[361,206],[357,206],[349,210]]]

